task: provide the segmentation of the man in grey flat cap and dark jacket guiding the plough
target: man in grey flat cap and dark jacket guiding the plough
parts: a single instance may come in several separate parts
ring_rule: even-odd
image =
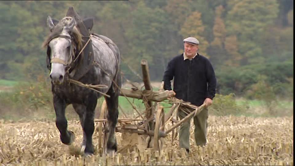
[[[195,143],[206,144],[208,106],[212,104],[215,97],[216,77],[210,61],[199,54],[199,41],[196,38],[183,40],[184,53],[174,57],[168,62],[164,73],[164,89],[172,91],[171,80],[174,77],[175,97],[183,101],[191,102],[196,106],[205,103],[205,109],[194,117]],[[193,111],[191,108],[183,107],[185,112]],[[187,113],[179,109],[178,116],[183,119]],[[190,123],[187,121],[179,129],[179,145],[189,152],[190,148]]]

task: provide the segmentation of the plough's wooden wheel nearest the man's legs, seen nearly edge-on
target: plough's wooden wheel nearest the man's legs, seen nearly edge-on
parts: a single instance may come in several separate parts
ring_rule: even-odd
[[[161,105],[157,105],[157,114],[155,117],[155,130],[154,130],[154,148],[160,152],[159,140],[159,132],[165,130],[165,113],[164,109]],[[162,145],[163,146],[163,145]]]

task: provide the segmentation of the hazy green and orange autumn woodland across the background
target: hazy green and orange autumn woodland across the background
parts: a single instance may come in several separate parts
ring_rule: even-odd
[[[41,48],[46,19],[63,18],[69,6],[94,17],[92,32],[118,45],[132,81],[140,81],[132,70],[140,71],[141,59],[151,80],[161,81],[167,62],[183,53],[183,38],[192,36],[214,66],[220,93],[245,95],[263,80],[293,88],[293,0],[0,1],[0,79],[49,72]]]

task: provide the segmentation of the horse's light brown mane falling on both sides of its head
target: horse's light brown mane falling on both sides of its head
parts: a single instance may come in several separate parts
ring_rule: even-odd
[[[64,29],[65,26],[68,26],[71,19],[69,19],[71,17],[65,17],[63,19],[61,19],[60,22],[58,22],[58,24],[56,26],[54,26],[54,28],[51,30],[51,33],[46,37],[45,41],[42,44],[43,48],[46,48],[49,44],[49,42],[53,39],[53,38],[57,38],[62,30]],[[73,27],[72,32],[70,33],[73,42],[72,45],[75,47],[77,51],[80,51],[82,48],[82,34],[80,33],[80,31],[78,30],[78,28],[76,26]]]

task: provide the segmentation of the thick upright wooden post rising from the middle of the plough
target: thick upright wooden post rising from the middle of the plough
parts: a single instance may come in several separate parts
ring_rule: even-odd
[[[141,60],[141,68],[142,68],[142,76],[143,76],[143,81],[144,81],[144,88],[148,91],[152,90],[151,87],[151,81],[150,81],[150,73],[148,69],[148,61],[147,60]],[[145,117],[147,119],[150,119],[151,116],[153,116],[153,110],[152,110],[152,101],[146,101],[143,99],[147,104],[146,104],[146,114]],[[151,121],[149,122],[149,127],[150,130],[154,130],[154,123]]]

